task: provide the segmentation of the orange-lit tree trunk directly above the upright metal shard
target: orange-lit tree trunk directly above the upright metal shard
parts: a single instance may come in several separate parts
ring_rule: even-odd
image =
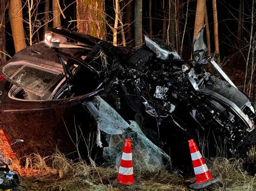
[[[214,1],[214,0],[213,0]],[[198,0],[197,1],[197,10],[196,10],[196,19],[194,22],[194,36],[193,41],[197,37],[198,32],[204,26],[204,19],[205,19],[205,0]]]

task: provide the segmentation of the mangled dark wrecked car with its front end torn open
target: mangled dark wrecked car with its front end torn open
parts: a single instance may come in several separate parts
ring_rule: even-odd
[[[224,146],[227,155],[245,156],[255,144],[252,101],[214,55],[207,56],[203,32],[193,60],[183,60],[147,36],[134,50],[49,29],[44,42],[16,53],[1,69],[2,126],[10,140],[24,139],[13,150],[19,157],[46,154],[58,144],[72,153],[93,139],[100,155],[112,160],[120,154],[114,150],[118,136],[132,135],[172,166],[190,160],[191,138],[205,155]]]

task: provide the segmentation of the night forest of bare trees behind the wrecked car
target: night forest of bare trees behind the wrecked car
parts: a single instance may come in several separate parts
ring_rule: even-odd
[[[193,39],[205,25],[208,53],[219,55],[219,65],[253,97],[254,5],[254,0],[1,1],[1,57],[43,40],[48,27],[66,27],[135,48],[146,34],[190,59]]]

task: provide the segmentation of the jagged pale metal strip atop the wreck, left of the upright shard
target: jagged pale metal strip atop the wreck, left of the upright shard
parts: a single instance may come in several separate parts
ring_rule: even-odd
[[[145,36],[145,41],[147,47],[149,47],[154,53],[157,54],[157,58],[162,60],[168,60],[169,55],[173,56],[173,60],[181,60],[180,55],[177,52],[170,52],[166,49],[161,48],[157,43],[151,40],[149,37]]]

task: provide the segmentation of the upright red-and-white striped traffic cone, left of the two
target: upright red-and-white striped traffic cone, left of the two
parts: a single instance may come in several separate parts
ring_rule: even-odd
[[[125,139],[124,151],[120,162],[117,183],[121,185],[131,185],[135,182],[132,165],[132,141]]]

